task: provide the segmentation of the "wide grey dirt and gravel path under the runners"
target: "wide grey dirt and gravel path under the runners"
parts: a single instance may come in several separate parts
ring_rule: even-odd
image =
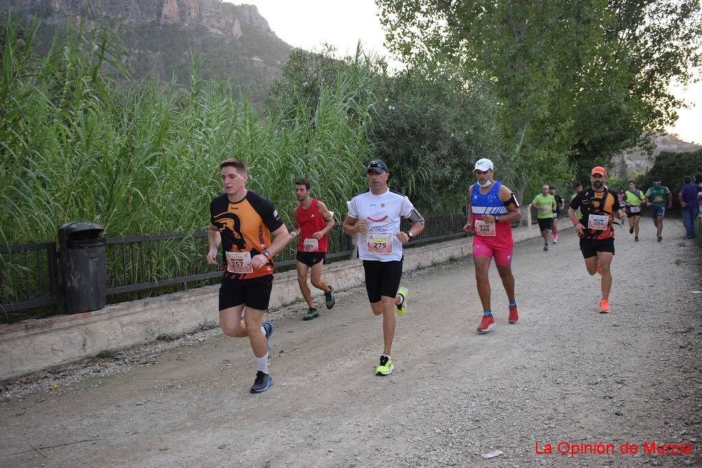
[[[573,232],[548,253],[520,243],[521,321],[507,324],[493,267],[486,335],[470,259],[406,274],[389,377],[373,375],[380,319],[357,288],[311,322],[300,305],[272,312],[265,394],[248,393],[248,342],[218,330],[5,382],[0,466],[702,466],[702,250],[678,220],[664,234],[649,219],[639,243],[617,230],[611,314]],[[560,442],[616,453],[571,457]]]

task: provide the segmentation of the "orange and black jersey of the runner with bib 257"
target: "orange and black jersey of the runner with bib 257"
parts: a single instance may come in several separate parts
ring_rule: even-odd
[[[283,225],[272,203],[251,190],[243,199],[232,202],[227,194],[210,203],[210,222],[222,238],[223,275],[232,279],[248,279],[273,273],[273,262],[251,273],[227,272],[227,252],[250,252],[251,258],[270,247],[270,233]]]

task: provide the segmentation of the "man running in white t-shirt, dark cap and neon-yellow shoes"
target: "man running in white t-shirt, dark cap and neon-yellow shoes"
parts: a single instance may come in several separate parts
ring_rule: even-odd
[[[366,291],[375,315],[383,316],[383,354],[376,375],[389,375],[395,368],[390,352],[395,338],[395,312],[404,315],[407,289],[399,288],[402,278],[402,245],[424,229],[424,218],[406,196],[388,189],[388,166],[373,159],[366,170],[369,192],[355,196],[343,224],[348,235],[358,235],[358,256],[363,260]],[[406,218],[411,223],[407,232],[399,230]]]

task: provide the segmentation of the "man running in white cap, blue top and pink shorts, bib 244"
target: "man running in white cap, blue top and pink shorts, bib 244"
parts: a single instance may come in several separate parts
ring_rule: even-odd
[[[515,194],[493,179],[494,166],[489,159],[475,163],[478,182],[468,189],[468,223],[463,230],[473,237],[473,262],[475,282],[483,307],[482,322],[478,333],[487,333],[495,326],[490,305],[490,281],[488,269],[494,257],[497,271],[510,300],[509,323],[517,323],[515,300],[515,277],[512,276],[512,222],[522,218]]]

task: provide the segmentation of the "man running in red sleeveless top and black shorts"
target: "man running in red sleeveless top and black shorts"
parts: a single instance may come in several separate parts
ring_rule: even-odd
[[[322,280],[327,233],[334,227],[334,218],[322,201],[310,197],[310,182],[307,180],[300,179],[295,182],[295,196],[300,203],[295,208],[295,230],[290,233],[290,238],[300,237],[296,267],[300,293],[303,294],[308,307],[303,320],[312,320],[319,316],[319,312],[314,306],[310,286],[307,286],[307,272],[310,272],[312,286],[324,292],[326,308],[331,309],[336,302],[334,288]]]

